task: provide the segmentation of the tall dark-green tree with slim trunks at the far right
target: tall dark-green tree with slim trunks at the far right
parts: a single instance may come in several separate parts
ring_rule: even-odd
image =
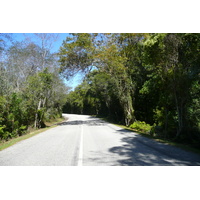
[[[144,43],[146,64],[151,65],[151,69],[160,76],[165,86],[162,93],[163,102],[166,102],[164,106],[166,123],[168,107],[175,108],[173,116],[177,116],[177,138],[184,135],[188,124],[187,104],[190,101],[190,88],[198,74],[194,70],[198,65],[196,63],[199,59],[198,46],[199,35],[191,36],[190,34],[189,36],[187,34],[153,34]],[[191,53],[197,57],[195,59],[193,56],[189,57]],[[169,101],[167,102],[166,99]]]

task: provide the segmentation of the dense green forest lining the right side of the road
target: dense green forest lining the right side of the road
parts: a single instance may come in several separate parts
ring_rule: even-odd
[[[200,147],[200,34],[71,34],[60,73],[83,82],[63,111]]]

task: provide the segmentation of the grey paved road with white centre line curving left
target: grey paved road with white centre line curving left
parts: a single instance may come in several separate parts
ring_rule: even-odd
[[[87,115],[0,151],[0,166],[196,166],[200,156]]]

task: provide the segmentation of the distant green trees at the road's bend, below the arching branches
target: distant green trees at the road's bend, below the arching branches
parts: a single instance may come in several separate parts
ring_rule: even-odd
[[[124,121],[123,108],[112,77],[97,70],[89,73],[84,82],[67,95],[63,111]]]

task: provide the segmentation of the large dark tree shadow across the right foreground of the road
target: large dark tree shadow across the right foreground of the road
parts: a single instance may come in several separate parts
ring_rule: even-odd
[[[134,134],[130,131],[119,130],[123,134],[123,145],[109,149],[118,155],[121,166],[196,166],[200,165],[200,156],[182,149],[156,142],[152,139]]]

